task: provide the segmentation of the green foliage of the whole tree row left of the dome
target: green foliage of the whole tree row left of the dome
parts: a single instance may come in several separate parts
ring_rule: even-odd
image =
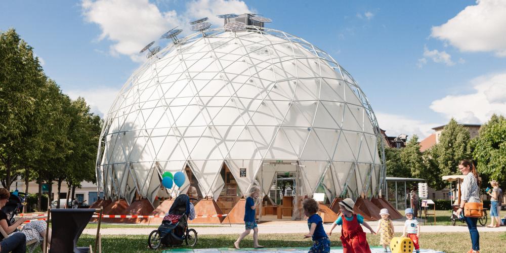
[[[100,117],[83,98],[72,101],[62,93],[14,29],[0,31],[0,62],[3,186],[17,176],[39,184],[56,180],[58,186],[95,182]]]

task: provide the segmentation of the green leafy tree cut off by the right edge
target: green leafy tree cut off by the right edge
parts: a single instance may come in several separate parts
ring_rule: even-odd
[[[506,181],[506,118],[492,115],[480,128],[480,136],[473,140],[473,157],[483,176],[499,182]]]

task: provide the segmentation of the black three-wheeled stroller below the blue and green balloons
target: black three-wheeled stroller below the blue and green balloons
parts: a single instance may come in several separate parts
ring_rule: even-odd
[[[148,246],[157,249],[161,244],[177,246],[183,244],[193,247],[197,244],[197,231],[188,229],[188,214],[190,213],[190,199],[181,194],[168,210],[168,216],[157,230],[153,230],[148,237]]]

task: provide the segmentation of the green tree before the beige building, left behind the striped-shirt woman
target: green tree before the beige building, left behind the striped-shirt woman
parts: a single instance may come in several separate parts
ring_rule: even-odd
[[[439,143],[432,149],[432,155],[439,167],[439,177],[459,174],[460,160],[472,157],[469,132],[453,118],[441,132]],[[444,187],[443,183],[437,189]]]

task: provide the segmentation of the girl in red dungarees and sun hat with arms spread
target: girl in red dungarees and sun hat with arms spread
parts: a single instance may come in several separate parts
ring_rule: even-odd
[[[353,213],[355,202],[353,202],[351,198],[344,199],[339,202],[339,205],[343,215],[332,224],[332,228],[330,232],[328,232],[328,235],[330,236],[332,234],[332,230],[336,225],[341,225],[341,242],[343,243],[344,253],[370,253],[371,249],[369,248],[369,243],[367,243],[365,232],[362,230],[360,224],[369,229],[372,234],[375,234],[374,230],[372,230],[369,224],[364,222],[364,217]]]

